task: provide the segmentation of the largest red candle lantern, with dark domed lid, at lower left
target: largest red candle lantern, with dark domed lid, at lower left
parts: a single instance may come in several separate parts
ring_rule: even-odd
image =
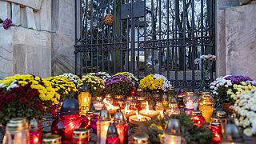
[[[60,118],[52,123],[51,129],[64,139],[71,139],[75,129],[85,128],[87,125],[88,119],[79,115],[78,100],[67,98],[62,104]]]

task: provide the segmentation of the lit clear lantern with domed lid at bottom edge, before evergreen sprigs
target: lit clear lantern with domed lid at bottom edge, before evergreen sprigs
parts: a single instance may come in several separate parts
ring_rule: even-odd
[[[165,126],[165,138],[164,138],[164,144],[169,143],[175,143],[175,144],[181,144],[182,143],[182,134],[181,134],[181,128],[180,123],[178,119],[170,118],[170,120],[167,122]]]

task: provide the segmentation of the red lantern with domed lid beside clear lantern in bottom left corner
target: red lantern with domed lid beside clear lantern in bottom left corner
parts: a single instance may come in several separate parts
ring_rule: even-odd
[[[30,120],[30,144],[42,144],[42,127],[35,118]]]

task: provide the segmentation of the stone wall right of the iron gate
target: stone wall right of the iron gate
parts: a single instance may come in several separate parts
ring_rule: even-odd
[[[256,78],[256,5],[218,0],[216,49],[218,76],[246,75]]]

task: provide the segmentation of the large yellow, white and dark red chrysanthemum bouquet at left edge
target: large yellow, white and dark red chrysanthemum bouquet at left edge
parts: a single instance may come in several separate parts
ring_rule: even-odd
[[[41,118],[54,102],[57,94],[50,83],[38,76],[24,74],[0,80],[0,123],[11,118]]]

